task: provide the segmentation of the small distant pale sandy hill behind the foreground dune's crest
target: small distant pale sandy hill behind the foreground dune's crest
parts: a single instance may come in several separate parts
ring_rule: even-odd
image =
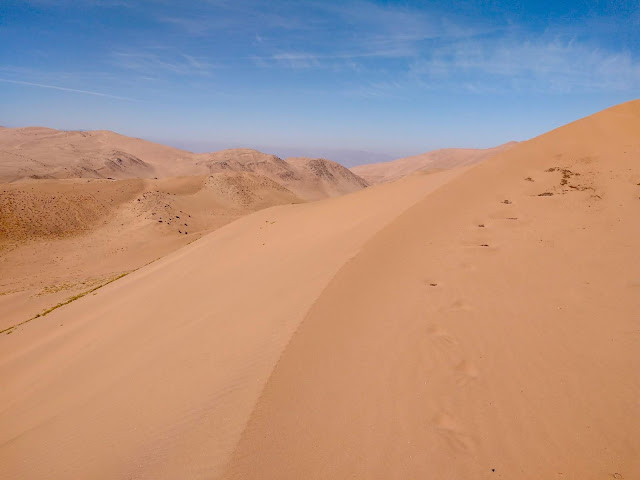
[[[494,148],[444,148],[391,162],[358,165],[351,171],[371,185],[392,182],[415,172],[434,171],[473,165],[517,145],[509,142]]]

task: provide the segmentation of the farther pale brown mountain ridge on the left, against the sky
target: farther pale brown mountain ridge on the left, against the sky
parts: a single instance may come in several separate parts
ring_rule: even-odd
[[[64,132],[42,127],[0,130],[0,182],[167,178],[221,172],[262,175],[306,200],[367,186],[342,165],[326,159],[289,162],[250,149],[192,153],[109,131]]]

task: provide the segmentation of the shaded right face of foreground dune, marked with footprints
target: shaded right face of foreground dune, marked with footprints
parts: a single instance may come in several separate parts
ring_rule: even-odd
[[[369,241],[224,478],[640,475],[640,102],[471,169]]]

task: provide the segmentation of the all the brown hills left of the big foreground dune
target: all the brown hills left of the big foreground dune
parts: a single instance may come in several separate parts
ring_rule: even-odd
[[[194,154],[108,131],[0,132],[0,330],[262,208],[367,187],[326,159]]]

